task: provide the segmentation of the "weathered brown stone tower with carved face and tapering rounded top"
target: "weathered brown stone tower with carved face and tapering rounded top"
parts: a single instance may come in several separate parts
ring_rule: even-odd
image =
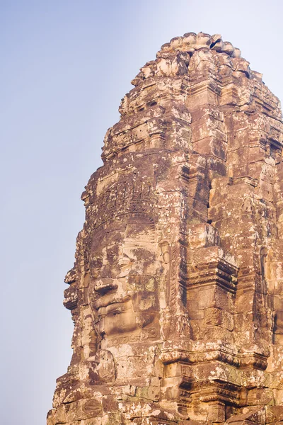
[[[82,199],[48,425],[283,424],[278,98],[219,34],[132,81]]]

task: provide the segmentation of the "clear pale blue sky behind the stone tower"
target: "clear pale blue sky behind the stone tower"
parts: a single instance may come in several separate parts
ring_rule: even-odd
[[[283,99],[282,12],[279,0],[0,0],[1,424],[45,425],[69,365],[80,196],[131,79],[171,38],[220,33]]]

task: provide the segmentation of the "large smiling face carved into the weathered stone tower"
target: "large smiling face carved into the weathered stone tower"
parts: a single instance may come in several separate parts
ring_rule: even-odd
[[[159,301],[158,261],[150,222],[116,222],[99,232],[91,247],[88,300],[100,348],[117,341],[135,342],[141,329],[156,334]]]

